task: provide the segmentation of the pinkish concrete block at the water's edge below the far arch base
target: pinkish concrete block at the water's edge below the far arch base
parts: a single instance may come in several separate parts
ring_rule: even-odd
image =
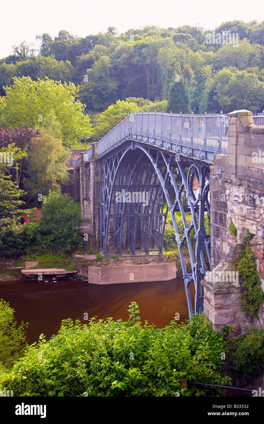
[[[176,278],[176,264],[88,266],[89,284],[124,284],[168,281]]]

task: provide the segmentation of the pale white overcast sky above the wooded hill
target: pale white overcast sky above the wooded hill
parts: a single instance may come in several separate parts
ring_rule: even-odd
[[[37,34],[54,37],[61,29],[85,37],[106,32],[109,26],[119,33],[145,25],[200,24],[213,29],[228,20],[264,19],[263,0],[5,0],[0,10],[0,58],[11,54],[14,44],[36,44]]]

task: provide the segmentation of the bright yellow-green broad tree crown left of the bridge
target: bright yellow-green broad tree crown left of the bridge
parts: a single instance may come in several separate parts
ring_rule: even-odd
[[[73,83],[61,84],[46,78],[33,81],[30,77],[14,78],[12,86],[6,86],[6,97],[1,102],[0,116],[9,125],[41,128],[50,111],[55,112],[61,124],[63,145],[77,144],[79,139],[92,135],[89,116],[84,115],[84,105],[76,100],[78,87]]]

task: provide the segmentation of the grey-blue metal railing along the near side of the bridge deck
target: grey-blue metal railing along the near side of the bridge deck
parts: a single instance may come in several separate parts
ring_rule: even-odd
[[[179,146],[189,146],[199,151],[227,154],[228,117],[222,113],[131,113],[98,142],[98,157],[128,138],[150,142],[172,151]]]

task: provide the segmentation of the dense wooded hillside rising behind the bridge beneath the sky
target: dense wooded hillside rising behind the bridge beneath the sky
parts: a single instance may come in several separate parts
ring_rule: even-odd
[[[6,94],[5,86],[17,77],[71,81],[80,86],[78,96],[86,104],[86,112],[101,112],[118,99],[129,97],[167,102],[169,87],[177,75],[186,81],[194,112],[242,108],[261,112],[263,22],[234,20],[215,28],[216,33],[239,34],[236,45],[206,44],[207,32],[198,25],[147,25],[119,35],[111,30],[86,37],[65,30],[54,38],[43,33],[37,36],[41,42],[38,56],[32,45],[22,42],[14,46],[13,55],[0,60],[0,95]],[[168,111],[180,112],[177,104],[173,103],[176,109],[170,107]],[[0,123],[8,125],[1,116]]]

